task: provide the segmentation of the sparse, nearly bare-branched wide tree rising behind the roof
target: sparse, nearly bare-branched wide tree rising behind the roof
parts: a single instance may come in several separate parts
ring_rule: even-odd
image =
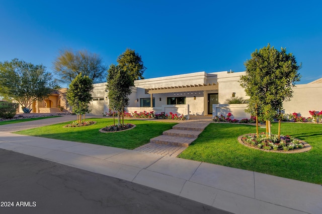
[[[68,84],[81,73],[92,79],[93,83],[99,83],[105,78],[107,70],[98,55],[87,51],[60,51],[53,65],[60,81]]]

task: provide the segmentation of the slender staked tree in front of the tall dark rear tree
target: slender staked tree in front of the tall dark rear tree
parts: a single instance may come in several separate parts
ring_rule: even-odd
[[[124,126],[124,110],[129,105],[128,96],[132,92],[132,77],[120,66],[112,64],[108,70],[107,86],[110,108],[118,112],[118,126],[121,125],[120,117],[122,113],[122,125]],[[115,125],[115,120],[114,120]]]

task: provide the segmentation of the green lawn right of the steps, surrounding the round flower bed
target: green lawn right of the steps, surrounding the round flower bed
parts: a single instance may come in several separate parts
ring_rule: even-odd
[[[277,128],[273,123],[272,133]],[[237,137],[248,133],[256,133],[256,127],[211,123],[179,157],[322,184],[322,125],[282,123],[281,134],[312,146],[303,153],[265,152],[238,143]]]

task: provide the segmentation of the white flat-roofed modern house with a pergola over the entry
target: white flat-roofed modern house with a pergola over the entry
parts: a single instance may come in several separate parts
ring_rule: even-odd
[[[245,72],[195,72],[167,77],[135,80],[129,96],[127,111],[154,111],[155,113],[180,113],[189,115],[220,115],[228,111],[234,118],[249,118],[244,112],[246,105],[224,105],[233,96],[247,99],[240,86],[240,75]],[[285,113],[300,113],[309,117],[309,110],[322,110],[322,78],[308,84],[296,85],[294,96],[284,103]],[[102,115],[109,111],[106,83],[94,84],[91,114]]]

